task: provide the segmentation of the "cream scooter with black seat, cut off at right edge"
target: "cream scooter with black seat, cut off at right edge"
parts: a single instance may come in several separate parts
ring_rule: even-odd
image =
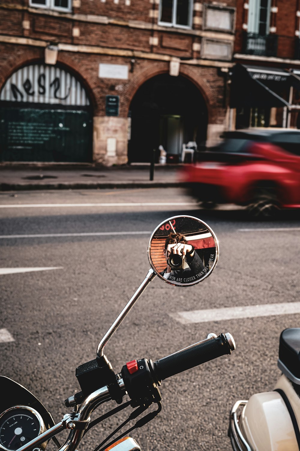
[[[234,451],[299,451],[300,328],[282,331],[273,391],[239,400],[231,409],[228,436]]]

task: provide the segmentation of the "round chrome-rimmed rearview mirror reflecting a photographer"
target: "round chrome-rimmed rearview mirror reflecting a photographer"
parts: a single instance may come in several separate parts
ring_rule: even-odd
[[[208,277],[219,258],[213,230],[194,216],[173,216],[153,231],[148,243],[152,269],[163,281],[195,285]]]

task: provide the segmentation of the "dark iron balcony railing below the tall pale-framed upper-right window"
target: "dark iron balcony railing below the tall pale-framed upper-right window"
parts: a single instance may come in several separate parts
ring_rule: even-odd
[[[277,34],[261,36],[258,33],[245,33],[243,53],[246,55],[276,56],[277,41]]]

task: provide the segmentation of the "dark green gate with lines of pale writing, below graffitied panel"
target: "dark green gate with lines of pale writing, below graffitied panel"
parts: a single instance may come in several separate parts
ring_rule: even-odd
[[[1,161],[92,161],[87,110],[0,109]]]

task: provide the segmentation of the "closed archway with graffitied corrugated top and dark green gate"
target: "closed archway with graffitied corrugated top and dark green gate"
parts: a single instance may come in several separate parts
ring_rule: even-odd
[[[0,91],[0,160],[92,161],[92,121],[85,87],[73,74],[22,67]]]

